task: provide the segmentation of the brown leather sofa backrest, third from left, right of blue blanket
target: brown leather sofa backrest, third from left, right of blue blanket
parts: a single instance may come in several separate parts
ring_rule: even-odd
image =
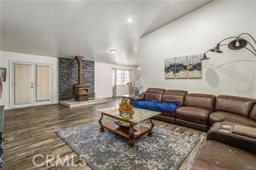
[[[187,94],[185,96],[185,106],[193,106],[214,110],[215,96],[211,94]]]

